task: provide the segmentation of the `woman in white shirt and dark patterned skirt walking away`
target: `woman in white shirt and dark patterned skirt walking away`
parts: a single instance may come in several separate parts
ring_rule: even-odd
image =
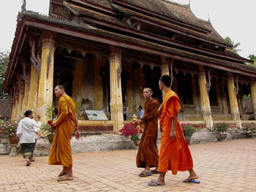
[[[16,134],[20,138],[21,153],[23,158],[26,158],[26,166],[29,166],[36,145],[35,134],[39,131],[39,123],[33,119],[31,110],[27,110],[24,115],[25,118],[20,120]]]

